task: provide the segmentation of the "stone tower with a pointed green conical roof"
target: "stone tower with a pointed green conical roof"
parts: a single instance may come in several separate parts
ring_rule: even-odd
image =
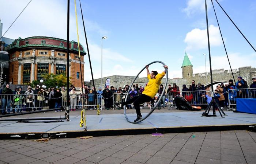
[[[191,64],[186,52],[185,52],[181,69],[182,69],[182,78],[186,79],[187,82],[190,83],[193,77],[193,65]]]

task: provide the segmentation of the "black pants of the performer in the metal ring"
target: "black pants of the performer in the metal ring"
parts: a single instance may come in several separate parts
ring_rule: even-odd
[[[128,101],[123,102],[122,105],[128,105],[128,104],[133,103],[133,105],[136,109],[137,116],[142,117],[142,115],[140,113],[140,104],[143,104],[144,102],[150,102],[150,100],[151,100],[151,97],[149,97],[146,94],[142,94],[139,96],[135,96],[135,97],[129,99]]]

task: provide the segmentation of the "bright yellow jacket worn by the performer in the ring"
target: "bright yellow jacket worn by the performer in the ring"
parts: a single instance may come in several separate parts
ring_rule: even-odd
[[[142,94],[146,94],[149,97],[154,98],[155,94],[157,94],[159,85],[161,84],[161,80],[164,76],[164,71],[161,74],[157,74],[153,79],[150,78],[150,74],[147,75],[148,83],[147,86],[144,88],[145,90],[142,92]]]

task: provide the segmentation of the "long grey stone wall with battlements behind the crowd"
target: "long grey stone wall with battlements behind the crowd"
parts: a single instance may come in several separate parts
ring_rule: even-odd
[[[184,67],[183,67],[184,68]],[[189,68],[182,69],[185,71],[185,73],[188,73]],[[244,78],[248,85],[250,86],[252,83],[252,77],[256,76],[256,69],[252,68],[251,66],[248,67],[240,67],[239,69],[234,69],[232,70],[234,77],[237,81],[237,77],[241,76]],[[132,81],[135,79],[135,76],[121,76],[121,75],[113,75],[110,77],[104,77],[102,78],[102,83],[103,87],[105,86],[105,81],[107,78],[110,78],[110,86],[114,86],[116,88],[118,87],[124,87],[124,85],[131,85]],[[220,82],[228,82],[229,79],[233,79],[233,76],[231,74],[231,70],[224,70],[224,69],[217,69],[217,70],[212,70],[212,80],[213,84],[220,83]],[[210,73],[207,73],[207,82],[206,82],[206,73],[199,73],[199,74],[193,74],[190,77],[185,78],[174,78],[174,79],[168,79],[168,84],[173,84],[176,83],[177,86],[180,87],[180,90],[182,89],[182,85],[185,84],[187,87],[191,85],[191,81],[195,80],[196,84],[198,82],[201,82],[203,85],[209,85],[210,87],[211,84],[211,77]],[[138,77],[134,84],[139,84],[139,86],[146,86],[148,82],[148,79],[146,77]],[[165,82],[165,78],[162,79],[162,83]],[[94,79],[95,87],[98,90],[99,87],[101,87],[101,78],[99,79]],[[85,82],[88,86],[92,87],[93,82]],[[168,87],[168,86],[167,86]]]

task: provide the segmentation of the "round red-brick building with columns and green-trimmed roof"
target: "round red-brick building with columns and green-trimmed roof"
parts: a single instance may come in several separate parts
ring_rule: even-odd
[[[69,42],[69,77],[75,86],[81,84],[84,73],[83,56],[86,55],[80,44],[82,73],[80,73],[78,43]],[[61,74],[67,70],[67,40],[33,36],[18,38],[6,47],[10,56],[9,81],[13,84],[27,84],[42,79],[45,73]]]

